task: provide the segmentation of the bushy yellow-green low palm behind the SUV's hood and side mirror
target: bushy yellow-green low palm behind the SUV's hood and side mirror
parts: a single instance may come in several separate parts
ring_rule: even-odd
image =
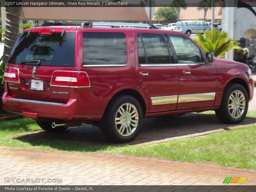
[[[238,41],[228,38],[228,33],[213,29],[204,33],[196,33],[198,38],[194,41],[204,49],[205,52],[213,52],[216,57],[224,57],[224,54],[230,49],[241,50]]]

